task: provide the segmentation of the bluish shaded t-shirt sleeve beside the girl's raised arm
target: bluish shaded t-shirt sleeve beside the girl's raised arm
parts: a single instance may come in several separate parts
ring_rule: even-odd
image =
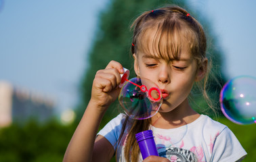
[[[111,121],[98,132],[98,135],[104,136],[110,144],[114,147],[114,151],[116,151],[117,141],[119,140],[119,136],[121,134],[121,130],[123,127],[123,121],[125,120],[125,115],[123,113],[117,115]]]

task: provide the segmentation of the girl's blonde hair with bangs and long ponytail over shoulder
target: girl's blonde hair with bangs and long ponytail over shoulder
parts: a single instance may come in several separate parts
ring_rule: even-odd
[[[153,49],[153,55],[163,59],[173,57],[178,59],[182,49],[189,48],[198,65],[206,58],[207,38],[200,23],[188,12],[177,6],[161,7],[153,11],[145,11],[131,25],[133,42],[131,53]],[[156,29],[153,41],[149,41],[147,32]],[[151,43],[151,44],[150,44]],[[209,100],[206,92],[207,77],[200,86],[205,99]],[[211,107],[211,102],[208,102]],[[128,122],[129,121],[129,122]],[[148,130],[150,119],[125,119],[119,142],[125,130],[129,130],[125,144],[125,159],[137,161],[140,148],[135,141],[135,134]],[[131,154],[132,153],[132,154]]]

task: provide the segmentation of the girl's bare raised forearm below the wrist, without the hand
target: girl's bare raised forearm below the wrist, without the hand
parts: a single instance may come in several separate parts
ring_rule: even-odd
[[[93,103],[89,103],[85,113],[75,130],[66,153],[64,161],[91,161],[95,136],[104,115]]]

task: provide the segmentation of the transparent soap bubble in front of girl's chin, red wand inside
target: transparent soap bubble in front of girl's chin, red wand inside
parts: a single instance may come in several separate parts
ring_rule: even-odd
[[[146,78],[131,78],[121,89],[119,103],[129,117],[148,119],[157,113],[163,98],[154,82]]]

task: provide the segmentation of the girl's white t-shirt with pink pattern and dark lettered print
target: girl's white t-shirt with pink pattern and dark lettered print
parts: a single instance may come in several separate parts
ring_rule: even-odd
[[[117,161],[125,161],[123,149],[127,134],[117,147],[125,117],[125,114],[119,114],[98,133],[112,144],[114,151],[117,148]],[[207,115],[200,115],[192,123],[179,128],[161,129],[150,126],[150,129],[153,131],[159,156],[170,161],[230,162],[247,155],[232,131]],[[141,154],[139,161],[142,161]]]

